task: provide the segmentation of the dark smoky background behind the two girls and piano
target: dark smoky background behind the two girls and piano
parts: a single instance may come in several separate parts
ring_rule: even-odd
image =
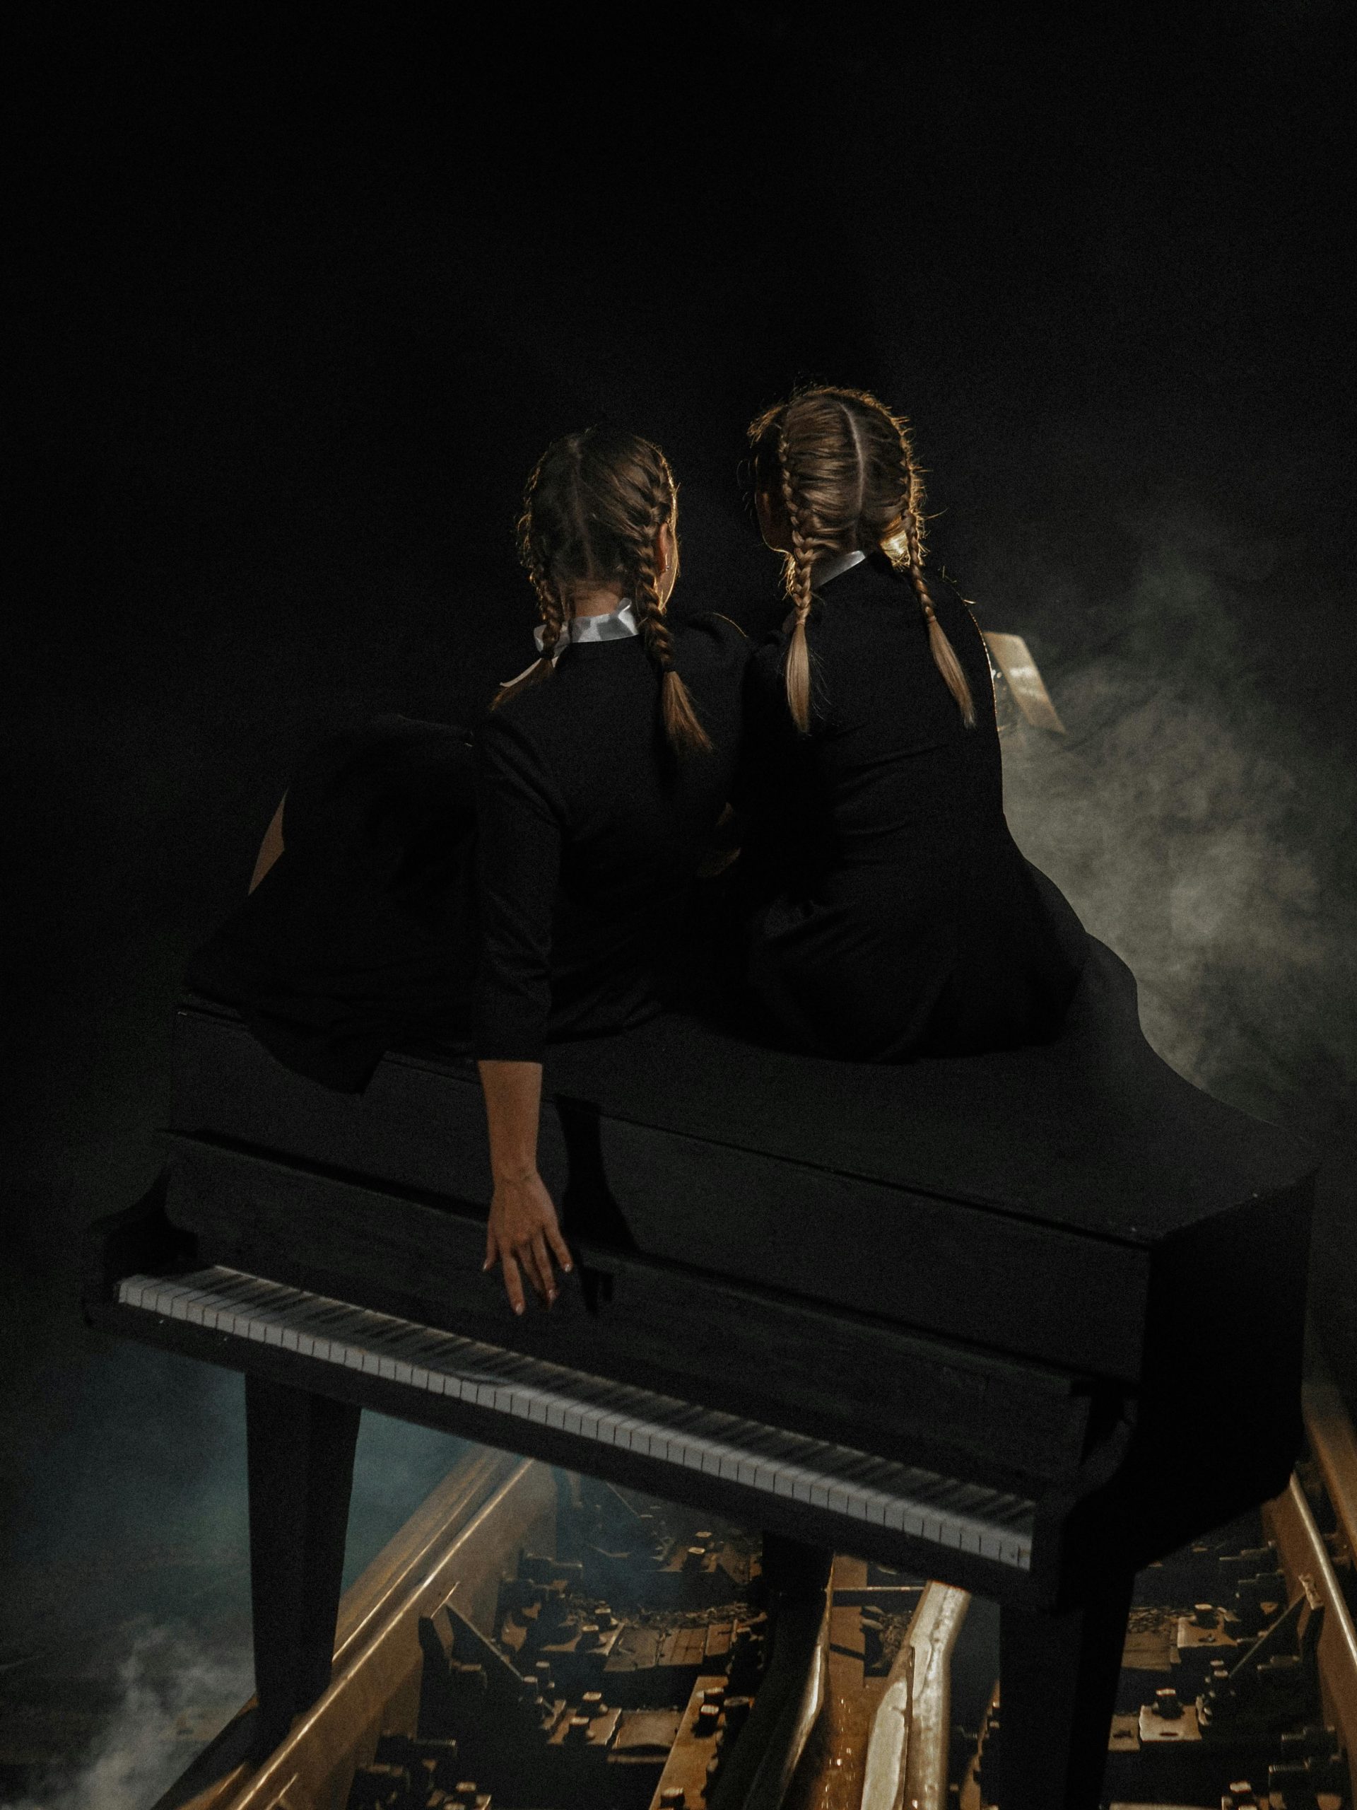
[[[603,416],[677,467],[675,608],[749,626],[751,413],[820,376],[914,418],[937,554],[1069,728],[1008,744],[1019,840],[1156,1046],[1324,1149],[1352,1388],[1348,9],[36,20],[0,1712],[74,1691],[43,1748],[74,1763],[128,1676],[177,1714],[157,1654],[185,1701],[237,1692],[235,1385],[81,1329],[78,1233],[154,1173],[177,976],[297,749],[467,719],[525,664],[521,481]],[[364,1439],[355,1564],[447,1462]]]

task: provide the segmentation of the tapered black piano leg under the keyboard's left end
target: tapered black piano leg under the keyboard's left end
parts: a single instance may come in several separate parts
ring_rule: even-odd
[[[244,1379],[259,1745],[329,1687],[360,1410]]]

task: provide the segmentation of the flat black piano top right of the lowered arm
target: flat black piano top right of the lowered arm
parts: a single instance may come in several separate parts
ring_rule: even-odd
[[[908,1064],[753,1046],[684,1017],[557,1044],[546,1090],[606,1119],[1153,1243],[1315,1167],[1297,1137],[1183,1081],[1145,1043],[1106,945],[1049,1046]]]

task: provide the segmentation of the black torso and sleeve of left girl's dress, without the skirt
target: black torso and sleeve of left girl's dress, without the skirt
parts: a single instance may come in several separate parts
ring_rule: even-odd
[[[731,791],[745,659],[720,615],[673,634],[711,742],[700,755],[668,746],[641,635],[572,644],[550,684],[481,726],[481,1015],[496,1052],[536,1052],[548,970],[552,1035],[622,1030],[655,1010]]]

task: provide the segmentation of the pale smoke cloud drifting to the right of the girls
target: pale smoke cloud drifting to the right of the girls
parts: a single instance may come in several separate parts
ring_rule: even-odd
[[[1010,824],[1134,970],[1143,1028],[1180,1073],[1254,1110],[1343,1091],[1357,776],[1256,675],[1295,652],[1295,579],[1276,543],[1203,514],[1131,532],[1131,583],[1096,599],[1106,641],[1053,646],[1046,662],[1068,737],[1020,726],[1006,740]],[[1071,621],[1087,621],[1087,595],[1060,583]],[[1008,626],[1001,605],[981,614]]]

